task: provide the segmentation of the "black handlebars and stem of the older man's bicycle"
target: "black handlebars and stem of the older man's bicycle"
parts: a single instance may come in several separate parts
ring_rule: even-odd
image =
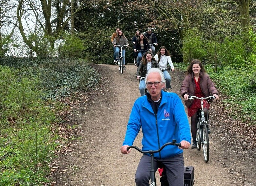
[[[154,172],[154,153],[158,153],[160,152],[165,146],[167,145],[176,145],[181,147],[180,143],[177,143],[176,140],[172,140],[172,142],[168,142],[165,143],[163,146],[161,146],[161,148],[159,148],[158,150],[149,150],[149,151],[142,151],[140,148],[138,148],[137,146],[129,146],[127,147],[127,151],[130,148],[135,148],[136,150],[138,150],[140,153],[142,154],[150,154],[151,157],[151,169],[150,169],[150,186],[156,186],[156,179],[155,179],[155,172]]]

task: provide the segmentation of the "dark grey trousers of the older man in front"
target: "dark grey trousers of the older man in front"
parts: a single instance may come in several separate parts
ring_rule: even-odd
[[[165,159],[154,158],[154,171],[156,172],[159,167],[159,162],[165,165],[167,180],[169,186],[183,186],[184,179],[184,161],[183,153],[174,157]],[[150,180],[150,156],[143,155],[140,159],[137,171],[135,174],[136,186],[149,186]]]

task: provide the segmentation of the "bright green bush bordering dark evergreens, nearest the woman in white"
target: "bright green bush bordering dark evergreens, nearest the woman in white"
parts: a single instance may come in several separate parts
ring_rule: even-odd
[[[205,58],[206,50],[204,49],[202,33],[197,28],[189,29],[185,33],[182,51],[184,62]]]

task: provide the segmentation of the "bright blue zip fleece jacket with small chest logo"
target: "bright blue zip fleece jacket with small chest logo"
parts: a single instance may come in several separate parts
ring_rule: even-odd
[[[139,97],[130,114],[123,145],[133,145],[140,128],[142,129],[142,150],[158,150],[163,144],[182,140],[190,143],[190,128],[181,99],[175,93],[161,92],[162,100],[155,115],[147,96]],[[182,153],[177,146],[168,145],[156,158],[168,158]]]

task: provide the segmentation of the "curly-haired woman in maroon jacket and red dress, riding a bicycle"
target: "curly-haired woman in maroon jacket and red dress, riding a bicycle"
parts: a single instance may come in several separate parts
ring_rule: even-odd
[[[188,100],[188,96],[193,95],[197,97],[208,97],[213,95],[216,97],[216,99],[219,99],[216,87],[214,86],[209,75],[206,73],[201,61],[198,59],[192,60],[188,66],[186,77],[182,82],[180,91],[181,96],[185,99],[188,117],[191,117],[191,133],[193,137],[193,144],[191,148],[196,148],[197,112],[201,108],[201,101],[199,99]],[[204,102],[203,107],[206,121],[208,121],[208,109],[210,104],[208,102]],[[208,133],[210,133],[209,127]]]

